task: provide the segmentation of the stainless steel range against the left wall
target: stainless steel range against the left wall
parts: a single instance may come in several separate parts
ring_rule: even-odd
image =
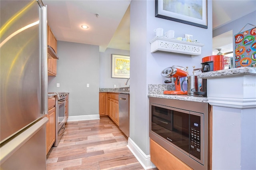
[[[66,92],[56,92],[56,132],[54,146],[58,146],[60,139],[65,131],[65,97],[68,95]]]

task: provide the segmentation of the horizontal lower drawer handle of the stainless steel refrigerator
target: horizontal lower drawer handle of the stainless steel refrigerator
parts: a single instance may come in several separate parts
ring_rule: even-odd
[[[10,140],[8,143],[4,144],[0,148],[0,162],[1,164],[6,161],[12,154],[14,154],[23,144],[25,144],[36,132],[38,132],[49,119],[44,116],[34,125],[26,128],[18,136]]]

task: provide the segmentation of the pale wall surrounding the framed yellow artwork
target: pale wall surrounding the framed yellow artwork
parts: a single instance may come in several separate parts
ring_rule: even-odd
[[[112,78],[112,54],[130,55],[130,51],[107,48],[104,53],[100,52],[100,88],[124,87],[127,79]],[[130,81],[128,84],[130,85]]]

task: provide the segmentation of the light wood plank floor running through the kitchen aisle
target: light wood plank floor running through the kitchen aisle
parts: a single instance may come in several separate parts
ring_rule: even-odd
[[[47,170],[143,170],[127,141],[108,116],[67,122],[60,143],[46,156]]]

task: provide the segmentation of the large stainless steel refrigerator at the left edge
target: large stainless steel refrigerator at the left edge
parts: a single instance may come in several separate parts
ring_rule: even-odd
[[[46,6],[0,0],[0,169],[46,169]]]

